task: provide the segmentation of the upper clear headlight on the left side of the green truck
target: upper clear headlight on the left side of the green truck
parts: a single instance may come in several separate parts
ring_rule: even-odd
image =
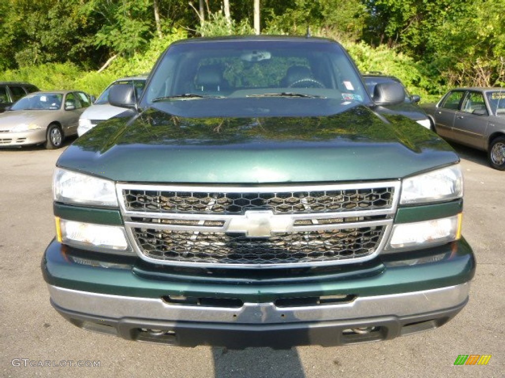
[[[117,207],[114,181],[56,168],[53,199],[57,202]]]

